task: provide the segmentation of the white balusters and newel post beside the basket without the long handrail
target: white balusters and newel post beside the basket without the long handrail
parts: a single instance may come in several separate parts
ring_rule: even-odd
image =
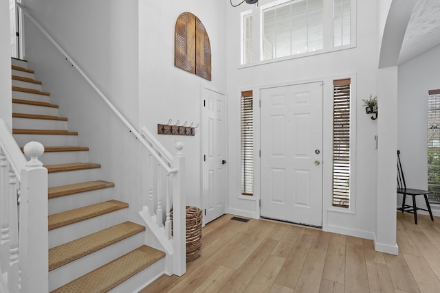
[[[153,154],[148,156],[148,184],[150,185],[148,203],[147,207],[140,211],[140,215],[166,251],[167,274],[182,276],[186,272],[185,157],[181,152],[184,144],[177,142],[175,148],[177,150],[175,156],[169,155],[172,159],[168,159],[169,163],[166,164],[159,163],[164,156],[159,148],[149,150]],[[171,220],[172,208],[173,221]],[[150,211],[153,211],[153,214]]]

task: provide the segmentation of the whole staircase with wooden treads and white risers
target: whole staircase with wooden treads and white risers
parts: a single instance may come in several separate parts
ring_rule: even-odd
[[[128,221],[129,204],[89,162],[78,132],[58,117],[50,93],[23,60],[12,59],[12,133],[23,148],[39,141],[49,173],[51,292],[135,292],[164,272],[165,253],[144,245],[146,228]]]

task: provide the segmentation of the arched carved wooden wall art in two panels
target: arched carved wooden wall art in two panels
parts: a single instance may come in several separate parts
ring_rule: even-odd
[[[179,15],[175,26],[174,65],[211,80],[211,44],[205,26],[191,12]]]

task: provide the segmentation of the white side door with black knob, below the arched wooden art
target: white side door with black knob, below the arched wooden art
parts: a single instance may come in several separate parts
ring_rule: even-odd
[[[205,224],[225,213],[225,95],[203,89],[203,207]]]

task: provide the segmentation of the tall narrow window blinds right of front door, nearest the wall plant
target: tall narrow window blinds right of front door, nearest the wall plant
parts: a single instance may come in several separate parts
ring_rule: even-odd
[[[350,79],[333,81],[333,206],[350,204]]]

